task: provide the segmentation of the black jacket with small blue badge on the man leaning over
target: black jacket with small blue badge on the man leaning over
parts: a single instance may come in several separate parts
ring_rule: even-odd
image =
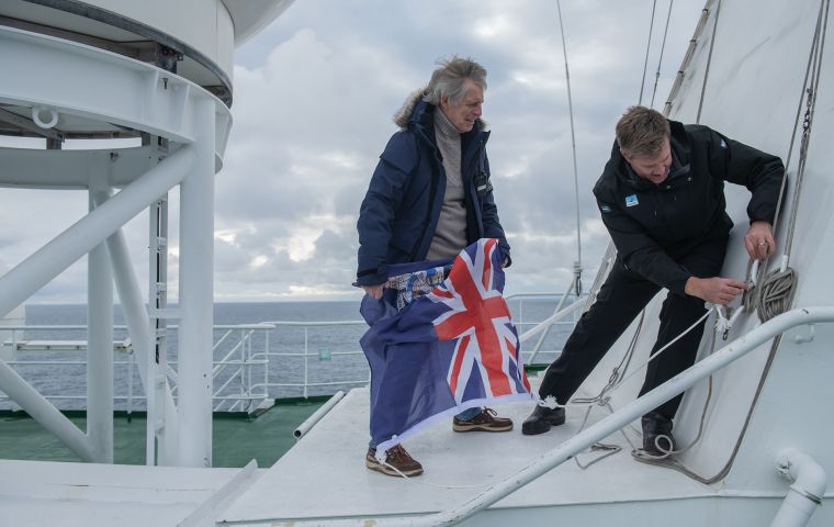
[[[669,121],[673,166],[661,184],[640,178],[615,142],[594,195],[618,258],[632,271],[685,294],[692,276],[677,264],[701,243],[726,237],[724,181],[752,193],[751,222],[773,225],[785,175],[781,160],[701,125]],[[709,277],[699,277],[709,278]]]

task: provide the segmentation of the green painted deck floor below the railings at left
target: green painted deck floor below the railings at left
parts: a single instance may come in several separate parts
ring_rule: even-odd
[[[279,402],[250,418],[245,413],[214,414],[212,466],[244,467],[252,459],[269,468],[294,444],[293,430],[322,406],[327,397]],[[83,412],[65,412],[86,430]],[[117,412],[113,418],[113,461],[145,464],[145,414]],[[81,461],[55,436],[24,412],[0,412],[0,458],[37,461]]]

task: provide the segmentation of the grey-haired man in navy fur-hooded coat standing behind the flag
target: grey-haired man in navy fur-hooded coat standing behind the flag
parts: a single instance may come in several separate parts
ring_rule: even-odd
[[[486,70],[471,58],[439,63],[426,88],[412,93],[395,114],[399,126],[374,170],[359,213],[359,266],[356,284],[382,296],[387,267],[421,260],[452,259],[480,238],[497,238],[504,266],[509,245],[498,220],[489,182],[481,120]],[[410,379],[401,382],[410,382]],[[408,386],[398,393],[410,401]],[[371,419],[380,418],[371,412]],[[391,425],[392,431],[396,423]],[[373,427],[372,427],[373,428]],[[454,431],[507,431],[512,422],[491,408],[470,408],[452,421]],[[376,459],[372,439],[365,466],[388,475],[417,475],[422,467],[397,445]],[[393,470],[392,467],[396,470]]]

